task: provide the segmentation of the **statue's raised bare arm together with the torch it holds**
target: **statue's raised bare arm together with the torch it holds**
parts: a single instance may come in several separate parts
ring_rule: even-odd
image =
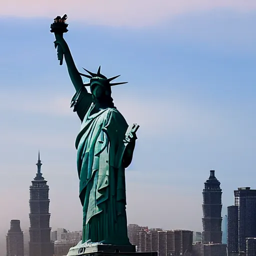
[[[64,15],[62,18],[57,16],[54,19],[54,23],[51,24],[51,32],[54,32],[56,38],[54,44],[55,48],[57,48],[57,56],[58,60],[60,60],[60,65],[62,64],[62,59],[64,56],[69,77],[74,85],[75,90],[79,91],[81,87],[83,87],[83,81],[75,66],[69,47],[63,38],[63,33],[67,31],[67,24],[65,23],[65,19],[66,15]]]

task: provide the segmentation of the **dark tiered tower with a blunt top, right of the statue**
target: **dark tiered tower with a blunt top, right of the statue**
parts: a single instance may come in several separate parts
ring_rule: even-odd
[[[202,242],[221,243],[221,188],[214,170],[210,170],[209,178],[204,182],[202,191]]]

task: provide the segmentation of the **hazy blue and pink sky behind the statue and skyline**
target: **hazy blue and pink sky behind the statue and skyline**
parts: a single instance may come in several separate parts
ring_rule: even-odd
[[[233,189],[255,187],[256,2],[93,2],[0,2],[3,238],[11,218],[29,225],[38,148],[52,228],[81,229],[74,147],[80,121],[69,108],[74,89],[49,32],[64,12],[78,69],[101,64],[106,76],[129,82],[113,88],[117,108],[140,124],[126,170],[129,223],[201,230],[201,190],[212,168],[223,213]]]

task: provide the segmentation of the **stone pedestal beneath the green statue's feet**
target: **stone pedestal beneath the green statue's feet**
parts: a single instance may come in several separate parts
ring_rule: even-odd
[[[81,243],[71,247],[66,256],[157,256],[157,252],[136,252],[135,245]]]

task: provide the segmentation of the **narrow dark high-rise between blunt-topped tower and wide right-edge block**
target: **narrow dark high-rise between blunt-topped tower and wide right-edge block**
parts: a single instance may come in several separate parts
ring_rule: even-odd
[[[238,255],[238,206],[227,207],[227,252]]]

